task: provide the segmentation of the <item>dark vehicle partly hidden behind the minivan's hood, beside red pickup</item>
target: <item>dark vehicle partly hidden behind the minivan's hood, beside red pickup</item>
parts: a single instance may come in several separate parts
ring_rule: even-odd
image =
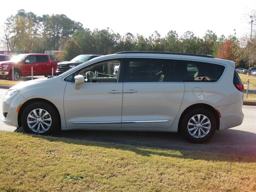
[[[81,64],[83,62],[86,62],[92,58],[96,58],[99,56],[102,56],[102,55],[78,55],[70,61],[59,62],[57,65],[56,74],[60,75],[64,72],[66,72],[67,70],[70,70],[70,69],[74,68],[75,66],[78,66],[79,64]]]

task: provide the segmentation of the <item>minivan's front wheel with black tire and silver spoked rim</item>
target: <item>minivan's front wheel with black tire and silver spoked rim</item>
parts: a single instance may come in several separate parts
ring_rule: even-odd
[[[37,117],[33,110],[36,112]],[[26,133],[53,134],[59,127],[58,112],[52,105],[46,102],[31,103],[22,112],[21,124]]]

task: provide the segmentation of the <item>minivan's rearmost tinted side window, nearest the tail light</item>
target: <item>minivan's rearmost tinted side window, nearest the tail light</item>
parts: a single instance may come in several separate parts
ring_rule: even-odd
[[[225,67],[218,64],[182,61],[184,82],[216,82],[222,76]]]

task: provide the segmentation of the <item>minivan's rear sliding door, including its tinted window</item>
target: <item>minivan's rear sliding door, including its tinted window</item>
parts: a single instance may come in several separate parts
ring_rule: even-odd
[[[122,129],[168,129],[182,104],[184,83],[175,60],[127,58]]]

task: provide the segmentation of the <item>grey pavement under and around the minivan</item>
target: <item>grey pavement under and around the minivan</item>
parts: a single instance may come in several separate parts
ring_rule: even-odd
[[[0,89],[1,100],[6,91]],[[245,116],[242,125],[216,131],[214,137],[204,144],[191,144],[178,133],[166,132],[62,131],[54,136],[142,147],[256,156],[256,107],[243,106],[243,112]],[[0,118],[2,117],[2,102],[0,102]],[[22,128],[6,126],[2,121],[0,121],[0,130],[24,132]]]

